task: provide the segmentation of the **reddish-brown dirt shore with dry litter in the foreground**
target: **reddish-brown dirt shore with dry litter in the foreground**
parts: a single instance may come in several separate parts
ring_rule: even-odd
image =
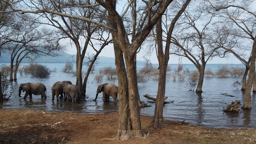
[[[51,111],[0,110],[0,143],[256,143],[256,129],[216,129],[165,121],[153,129],[151,117],[141,116],[147,138],[105,140],[118,129],[118,113],[78,114]]]

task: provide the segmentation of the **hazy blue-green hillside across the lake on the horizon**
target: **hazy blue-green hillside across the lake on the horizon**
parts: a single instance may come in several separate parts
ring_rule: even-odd
[[[9,51],[1,52],[0,63],[10,63],[11,55]],[[41,56],[37,57],[35,63],[66,63],[70,61],[76,63],[76,56],[67,54],[65,52],[58,52],[56,57]],[[84,59],[86,61],[86,58]],[[115,63],[114,57],[98,57],[98,63]],[[30,59],[26,58],[22,60],[22,63],[30,63]],[[137,61],[137,63],[144,63],[143,61]]]

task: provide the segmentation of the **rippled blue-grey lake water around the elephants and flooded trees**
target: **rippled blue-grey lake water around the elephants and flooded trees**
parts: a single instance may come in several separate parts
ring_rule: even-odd
[[[97,101],[92,101],[95,98],[95,93],[97,86],[103,83],[118,85],[117,79],[108,80],[106,77],[103,81],[97,83],[94,80],[96,73],[90,73],[88,83],[86,98],[79,103],[71,103],[64,100],[59,102],[52,101],[51,87],[56,81],[70,80],[73,84],[76,83],[76,77],[72,73],[63,73],[65,64],[43,64],[47,65],[49,69],[57,68],[56,73],[51,73],[47,78],[38,78],[31,75],[20,76],[19,74],[17,82],[12,82],[10,86],[10,91],[12,96],[10,100],[0,102],[0,108],[3,109],[33,109],[33,110],[47,110],[47,111],[57,111],[57,112],[75,112],[75,113],[109,113],[118,111],[118,104],[114,105],[113,99],[110,98],[110,102],[103,103],[101,99],[102,94],[99,94]],[[96,72],[99,68],[113,66],[113,63],[99,64],[96,67]],[[157,67],[157,65],[155,65]],[[177,68],[177,64],[170,65],[172,70]],[[185,64],[185,68],[191,70],[196,70],[193,64]],[[209,64],[207,68],[211,68],[212,71],[216,71],[220,65]],[[231,66],[231,65],[229,65]],[[236,66],[236,65],[234,65]],[[239,65],[244,67],[243,65]],[[137,69],[142,68],[143,65],[137,65]],[[183,69],[183,70],[184,70]],[[84,66],[83,71],[86,71],[87,67]],[[173,71],[172,71],[173,72]],[[217,127],[217,128],[247,128],[256,127],[256,94],[252,93],[252,110],[242,110],[242,113],[227,113],[223,112],[223,107],[230,104],[231,101],[241,100],[243,104],[243,92],[236,90],[232,87],[234,81],[241,81],[242,76],[229,77],[225,79],[219,79],[215,77],[205,77],[201,94],[196,94],[195,92],[188,91],[185,86],[185,81],[181,82],[176,80],[174,82],[172,77],[167,77],[166,82],[166,96],[168,96],[167,101],[174,100],[173,103],[166,104],[164,106],[164,118],[172,120],[180,120],[188,122],[192,125],[203,126],[203,127]],[[29,97],[23,99],[25,92],[22,93],[22,97],[18,96],[18,88],[20,83],[25,82],[41,82],[47,88],[47,99],[41,99],[41,96],[33,95],[30,100]],[[148,103],[147,98],[143,97],[146,93],[152,96],[156,96],[158,81],[151,77],[144,83],[138,83],[140,99],[152,105],[152,107],[141,108],[140,113],[147,116],[153,116],[154,114],[154,103]],[[223,93],[228,93],[235,95],[236,97],[229,97],[222,95]]]

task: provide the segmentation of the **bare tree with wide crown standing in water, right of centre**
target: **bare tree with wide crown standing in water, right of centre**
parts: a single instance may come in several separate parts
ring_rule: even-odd
[[[228,34],[221,31],[213,21],[214,15],[207,14],[201,4],[193,4],[181,16],[172,36],[175,47],[170,54],[187,57],[199,71],[197,93],[202,92],[208,60],[220,55],[221,47],[232,46],[227,42]]]

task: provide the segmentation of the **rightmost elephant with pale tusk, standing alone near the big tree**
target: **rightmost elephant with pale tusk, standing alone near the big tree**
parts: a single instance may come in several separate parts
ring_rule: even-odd
[[[96,97],[93,101],[97,100],[98,94],[103,92],[103,101],[106,102],[109,100],[109,97],[113,97],[114,103],[116,104],[117,95],[118,95],[118,87],[114,84],[100,84],[97,88]]]

